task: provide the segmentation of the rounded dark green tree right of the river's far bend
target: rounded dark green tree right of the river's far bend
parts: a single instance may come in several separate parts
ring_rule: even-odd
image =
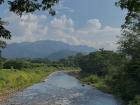
[[[93,73],[98,76],[106,76],[111,72],[110,68],[121,65],[122,56],[113,52],[101,50],[83,56],[79,60],[79,66],[83,72]]]

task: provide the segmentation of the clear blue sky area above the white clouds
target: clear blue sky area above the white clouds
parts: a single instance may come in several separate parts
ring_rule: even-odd
[[[115,6],[117,0],[64,0],[63,6],[73,12],[61,11],[71,17],[77,24],[83,25],[91,18],[99,19],[104,25],[120,26],[123,11]],[[63,9],[62,9],[63,10]]]

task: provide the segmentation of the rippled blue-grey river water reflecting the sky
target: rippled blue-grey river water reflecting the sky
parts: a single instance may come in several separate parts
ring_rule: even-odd
[[[4,105],[120,105],[110,94],[63,72],[14,94]]]

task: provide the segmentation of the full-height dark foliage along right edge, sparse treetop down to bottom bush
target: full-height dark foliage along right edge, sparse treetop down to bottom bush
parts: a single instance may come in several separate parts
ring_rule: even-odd
[[[136,105],[139,98],[135,97],[140,95],[140,0],[119,0],[116,5],[127,10],[119,44],[120,52],[130,59],[112,75],[110,86],[126,104]]]

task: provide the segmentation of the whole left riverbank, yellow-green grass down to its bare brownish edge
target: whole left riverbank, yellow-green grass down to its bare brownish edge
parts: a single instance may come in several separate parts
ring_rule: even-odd
[[[73,72],[78,68],[72,67],[37,67],[33,69],[1,69],[0,70],[0,105],[15,92],[41,81],[55,72]]]

